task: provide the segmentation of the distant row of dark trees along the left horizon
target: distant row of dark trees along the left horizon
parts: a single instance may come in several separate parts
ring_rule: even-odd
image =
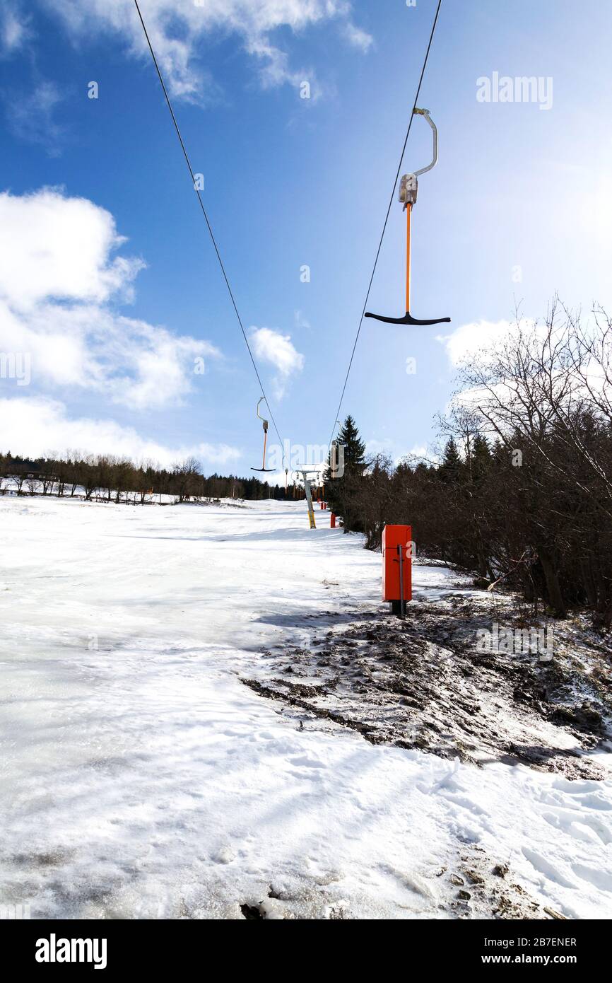
[[[10,451],[0,453],[0,492],[83,496],[109,502],[144,504],[154,495],[166,495],[177,502],[200,498],[294,497],[298,490],[290,485],[269,485],[257,478],[213,474],[205,477],[195,458],[174,467],[161,468],[152,462],[135,464],[129,458],[110,454],[82,454],[68,451],[62,456],[20,457]]]

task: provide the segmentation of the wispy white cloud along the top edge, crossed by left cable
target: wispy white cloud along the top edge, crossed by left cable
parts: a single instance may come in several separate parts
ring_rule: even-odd
[[[44,0],[44,5],[57,11],[76,35],[110,29],[129,39],[134,54],[149,57],[132,2]],[[289,67],[287,53],[271,40],[277,29],[299,33],[338,20],[350,44],[363,51],[370,43],[369,35],[353,25],[347,0],[140,0],[140,10],[171,94],[190,101],[210,96],[210,77],[196,59],[201,40],[214,31],[237,34],[245,50],[263,61],[264,86],[299,86],[305,78]]]

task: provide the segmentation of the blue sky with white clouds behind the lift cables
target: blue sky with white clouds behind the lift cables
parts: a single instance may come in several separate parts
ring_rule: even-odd
[[[325,444],[335,420],[435,6],[140,2],[292,446]],[[8,0],[0,18],[0,352],[30,357],[28,379],[0,377],[0,448],[248,473],[260,393],[132,0]],[[527,318],[555,290],[612,308],[611,20],[595,0],[442,3],[413,313],[452,323],[364,321],[342,415],[370,449],[431,441],[456,363],[515,301]],[[550,107],[478,101],[495,72],[552,80]],[[417,119],[403,171],[429,154]],[[402,313],[403,250],[394,203],[371,310]]]

